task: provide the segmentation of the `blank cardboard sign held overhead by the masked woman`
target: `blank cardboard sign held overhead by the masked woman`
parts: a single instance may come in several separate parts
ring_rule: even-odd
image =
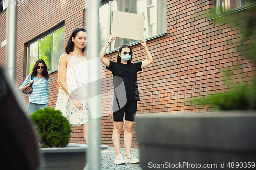
[[[112,35],[119,38],[143,39],[144,15],[113,12]]]

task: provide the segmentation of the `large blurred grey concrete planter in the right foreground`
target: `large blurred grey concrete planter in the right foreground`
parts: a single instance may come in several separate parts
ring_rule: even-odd
[[[255,134],[256,112],[136,116],[143,169],[248,168],[256,163]]]

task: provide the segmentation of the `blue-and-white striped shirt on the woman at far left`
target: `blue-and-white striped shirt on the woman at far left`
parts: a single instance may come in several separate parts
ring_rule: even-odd
[[[31,75],[28,75],[23,84],[19,87],[19,91],[22,92],[22,87],[29,84]],[[49,99],[49,79],[33,77],[32,93],[29,95],[29,102],[36,104],[47,104]]]

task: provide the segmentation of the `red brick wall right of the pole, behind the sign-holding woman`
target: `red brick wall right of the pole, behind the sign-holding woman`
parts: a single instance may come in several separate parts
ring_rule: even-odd
[[[228,23],[217,25],[207,21],[203,14],[209,8],[214,8],[214,1],[167,1],[167,34],[147,41],[154,62],[138,74],[141,99],[138,114],[211,111],[209,106],[191,106],[188,98],[227,91],[222,77],[224,70],[231,70],[229,80],[235,85],[252,80],[255,67],[238,50],[240,31],[232,30]],[[228,43],[226,40],[230,39]],[[132,50],[133,62],[146,58],[141,45],[132,46]],[[116,61],[116,53],[107,56]],[[242,68],[236,70],[238,64]],[[105,74],[112,76],[108,70]],[[105,113],[111,113],[111,98],[103,99]],[[102,140],[110,145],[113,145],[112,118],[110,114],[102,119]],[[133,147],[138,147],[135,131]]]

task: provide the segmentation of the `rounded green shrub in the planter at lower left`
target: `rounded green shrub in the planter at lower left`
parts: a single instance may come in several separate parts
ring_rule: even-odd
[[[59,110],[44,108],[30,115],[40,136],[42,147],[66,147],[71,136],[71,124]]]

